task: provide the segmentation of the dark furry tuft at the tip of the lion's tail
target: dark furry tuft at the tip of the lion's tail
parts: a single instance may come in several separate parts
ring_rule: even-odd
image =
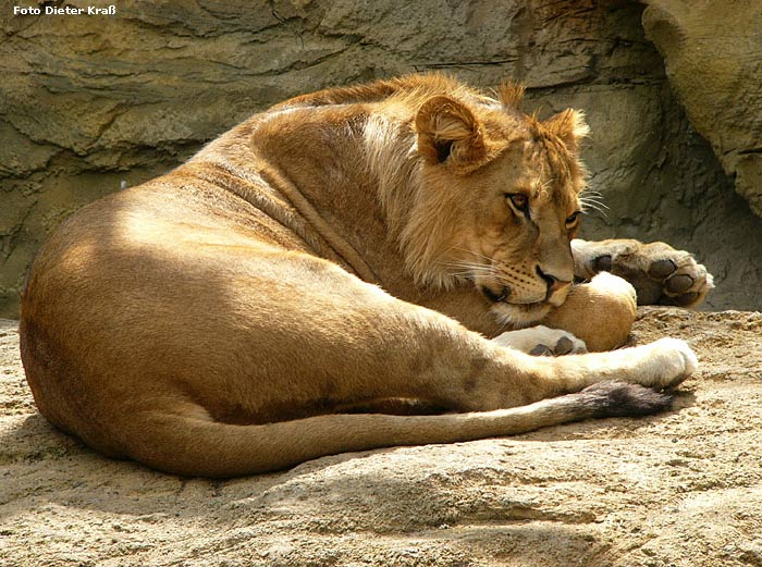
[[[597,418],[648,416],[672,408],[673,396],[627,382],[599,382],[578,396]]]

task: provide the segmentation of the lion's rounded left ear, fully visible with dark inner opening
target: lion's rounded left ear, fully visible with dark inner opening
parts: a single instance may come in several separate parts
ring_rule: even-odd
[[[432,164],[445,161],[465,165],[487,153],[481,124],[463,102],[432,97],[416,115],[418,151]]]

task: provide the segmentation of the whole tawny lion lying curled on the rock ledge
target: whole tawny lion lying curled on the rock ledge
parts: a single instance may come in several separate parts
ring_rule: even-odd
[[[23,293],[39,410],[106,455],[230,477],[666,408],[650,389],[696,370],[684,342],[574,355],[634,321],[630,284],[595,274],[686,306],[711,276],[575,241],[587,126],[519,98],[440,75],[297,97],[84,208]],[[439,414],[382,412],[418,409]]]

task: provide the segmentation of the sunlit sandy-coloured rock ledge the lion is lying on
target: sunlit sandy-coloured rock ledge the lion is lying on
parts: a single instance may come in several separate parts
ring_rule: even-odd
[[[676,410],[229,481],[95,454],[0,324],[0,565],[762,565],[762,313],[647,308],[702,361]]]

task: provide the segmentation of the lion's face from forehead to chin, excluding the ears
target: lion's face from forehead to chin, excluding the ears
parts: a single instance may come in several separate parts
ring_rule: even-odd
[[[546,151],[542,143],[516,143],[467,181],[478,198],[463,227],[460,254],[450,262],[506,322],[541,319],[564,303],[574,280],[569,243],[580,202]]]

